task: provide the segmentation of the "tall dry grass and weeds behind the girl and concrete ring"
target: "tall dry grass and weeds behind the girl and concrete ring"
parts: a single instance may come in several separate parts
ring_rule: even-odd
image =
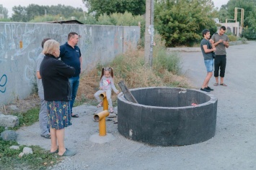
[[[157,54],[157,52],[156,52]],[[175,54],[172,54],[175,55]],[[157,60],[154,55],[153,61]],[[176,63],[179,64],[179,63]],[[164,67],[159,66],[161,63],[154,62],[151,68],[144,66],[144,50],[128,50],[124,55],[115,57],[115,60],[109,65],[98,65],[97,68],[81,75],[79,90],[76,101],[96,105],[94,93],[99,88],[100,69],[108,66],[114,70],[115,86],[120,90],[118,82],[123,80],[128,88],[141,87],[179,87],[190,88],[190,82],[183,75],[176,75],[169,72]],[[117,95],[112,93],[113,104],[116,105]]]

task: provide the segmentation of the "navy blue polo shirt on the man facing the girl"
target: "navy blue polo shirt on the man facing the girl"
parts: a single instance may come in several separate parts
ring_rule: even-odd
[[[73,76],[79,76],[81,72],[81,65],[79,60],[79,58],[81,57],[81,51],[79,47],[75,46],[73,48],[68,44],[68,42],[66,42],[65,44],[61,45],[60,51],[61,60],[65,62],[66,65],[75,68],[76,73]]]

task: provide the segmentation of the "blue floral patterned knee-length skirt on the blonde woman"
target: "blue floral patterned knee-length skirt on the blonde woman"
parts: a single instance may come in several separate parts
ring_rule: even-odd
[[[50,128],[62,129],[72,125],[69,101],[46,101]]]

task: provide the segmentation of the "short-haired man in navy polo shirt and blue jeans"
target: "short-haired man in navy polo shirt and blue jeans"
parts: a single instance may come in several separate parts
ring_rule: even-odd
[[[76,69],[76,73],[73,77],[69,78],[69,82],[71,85],[71,92],[72,92],[72,100],[71,100],[71,116],[73,118],[78,118],[79,115],[73,113],[73,105],[76,99],[76,93],[79,87],[79,75],[81,73],[81,64],[82,64],[82,57],[81,51],[77,46],[79,42],[79,35],[76,32],[70,32],[68,35],[68,42],[61,45],[60,50],[60,57],[66,65],[74,67]]]

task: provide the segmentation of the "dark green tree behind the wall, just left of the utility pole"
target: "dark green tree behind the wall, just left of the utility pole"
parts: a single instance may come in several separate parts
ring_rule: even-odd
[[[112,13],[131,12],[133,15],[145,14],[146,0],[83,0],[89,9],[89,13],[94,12],[96,18],[100,14],[110,15]]]

